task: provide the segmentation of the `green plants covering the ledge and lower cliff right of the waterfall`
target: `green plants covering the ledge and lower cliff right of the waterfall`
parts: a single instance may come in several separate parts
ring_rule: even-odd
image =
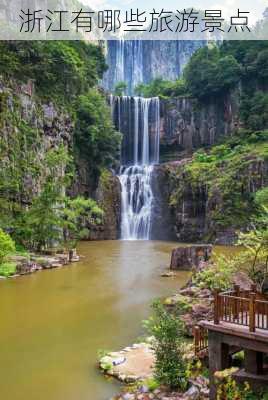
[[[240,229],[263,213],[248,188],[261,179],[254,165],[268,159],[267,133],[241,131],[221,145],[195,152],[191,162],[170,172],[172,207],[181,204],[189,190],[193,198],[205,192],[212,226],[208,239],[213,239],[214,229]]]

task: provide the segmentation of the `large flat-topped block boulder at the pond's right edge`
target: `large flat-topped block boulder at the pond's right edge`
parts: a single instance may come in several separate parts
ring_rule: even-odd
[[[210,259],[212,245],[192,245],[172,250],[170,269],[190,270]]]

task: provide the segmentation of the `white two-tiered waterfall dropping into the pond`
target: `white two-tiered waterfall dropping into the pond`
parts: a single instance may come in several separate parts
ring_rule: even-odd
[[[153,191],[151,178],[159,162],[158,98],[111,96],[113,119],[123,133],[121,168],[121,238],[150,238]]]

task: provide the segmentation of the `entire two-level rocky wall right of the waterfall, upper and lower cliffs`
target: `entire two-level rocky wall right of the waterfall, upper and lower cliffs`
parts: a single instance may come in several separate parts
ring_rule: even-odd
[[[161,164],[153,177],[152,237],[234,243],[236,232],[250,223],[254,194],[268,185],[262,145],[252,143],[248,153],[242,149],[222,165],[193,163],[192,155],[224,143],[241,127],[239,93],[203,105],[190,98],[161,100],[160,115]]]

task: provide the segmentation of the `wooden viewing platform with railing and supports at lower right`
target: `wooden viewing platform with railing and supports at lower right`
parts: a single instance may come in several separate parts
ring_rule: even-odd
[[[214,319],[195,328],[195,353],[208,351],[210,399],[216,398],[214,373],[232,366],[232,355],[244,350],[244,365],[234,378],[252,388],[268,387],[268,297],[256,290],[214,292]]]

